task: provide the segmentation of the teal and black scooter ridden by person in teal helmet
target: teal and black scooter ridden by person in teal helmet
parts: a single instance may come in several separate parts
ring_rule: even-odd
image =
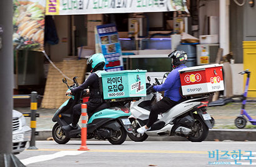
[[[76,77],[73,78],[74,84],[69,86],[66,78],[62,82],[67,88],[76,88],[78,85]],[[81,137],[81,127],[69,132],[61,129],[64,125],[72,122],[72,108],[75,104],[81,103],[82,93],[74,94],[70,99],[65,101],[59,109],[57,109],[52,121],[56,122],[52,128],[52,137],[59,144],[66,144],[71,138]],[[96,109],[93,115],[89,115],[87,124],[87,138],[96,138],[98,140],[108,140],[113,145],[121,145],[127,137],[127,133],[132,133],[132,127],[128,117],[130,111],[124,105],[127,102],[104,103]]]

